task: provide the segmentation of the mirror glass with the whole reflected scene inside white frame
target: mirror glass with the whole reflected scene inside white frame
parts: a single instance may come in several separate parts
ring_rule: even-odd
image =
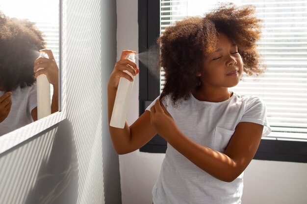
[[[59,110],[58,17],[59,1],[1,0],[0,136]]]

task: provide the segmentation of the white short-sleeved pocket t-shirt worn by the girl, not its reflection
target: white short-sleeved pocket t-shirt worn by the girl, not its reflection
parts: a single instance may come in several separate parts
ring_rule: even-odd
[[[146,110],[150,111],[154,102]],[[228,100],[214,103],[199,101],[191,94],[177,107],[172,106],[169,97],[163,104],[185,136],[219,152],[224,152],[239,122],[263,125],[262,136],[271,132],[265,104],[256,96],[233,93]],[[220,181],[167,144],[160,175],[153,187],[153,203],[240,204],[242,191],[243,173],[232,182]]]

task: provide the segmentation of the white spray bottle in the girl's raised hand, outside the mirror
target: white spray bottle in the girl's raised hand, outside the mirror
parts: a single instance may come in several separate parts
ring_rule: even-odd
[[[129,54],[127,58],[135,62],[134,53]],[[128,73],[134,80],[134,76],[130,72],[128,71],[125,72]],[[110,121],[110,126],[112,127],[122,128],[122,129],[125,127],[133,82],[130,82],[128,79],[124,77],[121,77],[119,80],[113,112]]]

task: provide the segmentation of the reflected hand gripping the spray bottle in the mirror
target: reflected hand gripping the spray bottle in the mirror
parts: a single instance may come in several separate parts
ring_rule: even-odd
[[[49,59],[39,57],[34,61],[34,77],[37,78],[40,74],[46,74],[49,83],[53,86],[58,86],[59,68],[56,65],[52,51],[50,49],[42,49],[40,51],[47,53]],[[37,70],[38,68],[43,69]]]

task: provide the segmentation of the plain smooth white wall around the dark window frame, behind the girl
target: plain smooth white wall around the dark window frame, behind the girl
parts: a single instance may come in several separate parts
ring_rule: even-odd
[[[117,0],[117,23],[118,56],[122,49],[137,51],[137,0]],[[137,82],[130,104],[130,124],[138,117]],[[120,156],[122,204],[152,204],[151,191],[163,158],[164,154],[139,151]],[[242,203],[306,204],[306,189],[307,164],[252,160],[244,175]]]

